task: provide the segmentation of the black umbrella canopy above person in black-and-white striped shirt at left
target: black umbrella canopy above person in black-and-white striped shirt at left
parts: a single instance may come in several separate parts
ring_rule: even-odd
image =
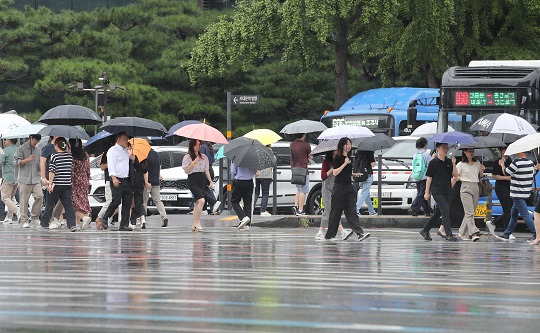
[[[96,125],[101,123],[101,118],[86,106],[58,105],[45,112],[39,122],[48,125]]]

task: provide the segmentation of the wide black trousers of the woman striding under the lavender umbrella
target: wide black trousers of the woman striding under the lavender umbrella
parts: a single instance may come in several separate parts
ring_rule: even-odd
[[[345,213],[347,222],[351,229],[358,235],[362,235],[364,230],[360,227],[360,218],[356,212],[356,197],[358,191],[355,191],[352,184],[334,183],[332,189],[332,208],[328,221],[328,230],[324,238],[331,239],[336,237],[341,214]]]

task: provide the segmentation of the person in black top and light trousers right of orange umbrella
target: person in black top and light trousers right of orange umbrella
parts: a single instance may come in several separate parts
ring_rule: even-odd
[[[148,196],[151,195],[152,201],[154,201],[154,203],[156,204],[156,208],[159,212],[159,215],[161,216],[161,226],[166,227],[169,223],[169,219],[167,218],[165,206],[163,205],[163,202],[161,202],[161,198],[159,196],[161,158],[155,150],[150,149],[150,153],[148,153],[147,157],[147,163],[148,173],[146,173],[145,176],[146,186],[143,192],[144,210],[146,211],[146,206],[148,205]]]

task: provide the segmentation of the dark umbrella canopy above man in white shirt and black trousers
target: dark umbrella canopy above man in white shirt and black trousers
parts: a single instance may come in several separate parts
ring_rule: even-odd
[[[118,134],[126,132],[128,136],[163,136],[167,129],[157,121],[139,117],[117,117],[107,121],[101,130]]]

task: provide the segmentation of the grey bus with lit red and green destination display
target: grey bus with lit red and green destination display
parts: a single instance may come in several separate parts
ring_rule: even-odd
[[[474,122],[486,114],[504,112],[538,124],[540,60],[483,60],[471,61],[466,67],[451,67],[443,74],[440,100],[438,132],[446,131],[449,115],[456,113],[470,115]],[[538,187],[539,174],[535,182],[534,187]],[[528,205],[532,211],[534,202]],[[481,201],[475,215],[485,216],[486,209]],[[502,208],[493,193],[493,215],[501,214]]]

